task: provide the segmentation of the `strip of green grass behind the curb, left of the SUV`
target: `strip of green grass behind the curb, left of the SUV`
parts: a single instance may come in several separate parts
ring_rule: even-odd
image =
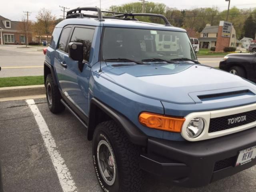
[[[3,77],[3,78],[0,78],[0,87],[42,85],[42,84],[44,84],[44,76]]]

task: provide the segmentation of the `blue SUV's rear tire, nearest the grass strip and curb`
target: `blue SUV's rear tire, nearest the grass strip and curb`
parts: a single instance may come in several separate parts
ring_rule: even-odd
[[[50,90],[49,90],[50,86]],[[60,113],[65,110],[65,106],[60,102],[61,95],[58,86],[54,84],[51,74],[48,74],[45,81],[46,100],[52,113]],[[51,101],[48,92],[51,92]]]

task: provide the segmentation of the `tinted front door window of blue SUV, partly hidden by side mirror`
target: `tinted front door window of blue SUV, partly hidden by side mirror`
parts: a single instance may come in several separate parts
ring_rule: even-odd
[[[84,45],[84,60],[86,61],[89,61],[93,35],[94,29],[76,27],[70,40]]]

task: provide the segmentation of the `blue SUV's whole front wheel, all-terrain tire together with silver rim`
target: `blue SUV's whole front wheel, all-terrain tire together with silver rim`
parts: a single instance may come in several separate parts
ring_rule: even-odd
[[[96,127],[92,155],[104,192],[140,192],[144,181],[139,166],[140,147],[132,144],[114,121]]]

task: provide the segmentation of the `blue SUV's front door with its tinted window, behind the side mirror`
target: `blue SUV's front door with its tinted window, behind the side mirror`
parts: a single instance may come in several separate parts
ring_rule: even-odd
[[[61,88],[65,96],[80,110],[88,116],[88,84],[90,78],[89,56],[94,36],[94,27],[74,26],[68,42],[80,42],[84,45],[84,65],[80,70],[78,62],[72,60],[65,54],[63,67],[61,69]]]

